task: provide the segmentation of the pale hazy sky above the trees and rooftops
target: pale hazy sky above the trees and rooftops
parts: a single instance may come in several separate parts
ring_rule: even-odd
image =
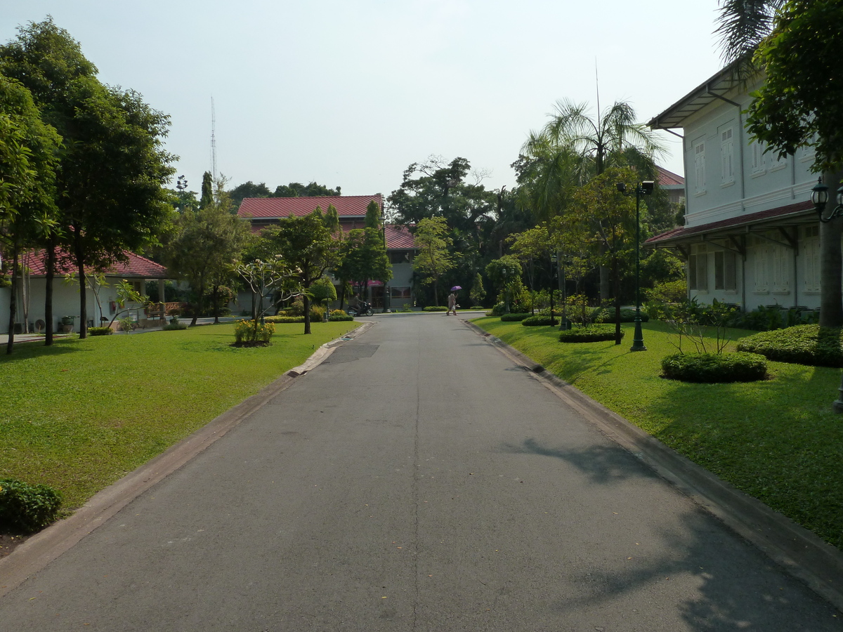
[[[560,99],[649,121],[722,67],[717,0],[0,0],[0,41],[52,15],[171,116],[191,190],[212,170],[389,195],[411,163],[467,158],[487,189]],[[212,125],[212,103],[214,123]],[[658,160],[684,174],[681,141]],[[473,181],[473,179],[472,179]],[[174,183],[175,185],[175,179]]]

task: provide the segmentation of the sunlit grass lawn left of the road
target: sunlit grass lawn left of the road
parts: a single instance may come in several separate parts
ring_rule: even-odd
[[[80,506],[359,323],[277,324],[237,349],[234,324],[15,345],[0,356],[0,478]]]

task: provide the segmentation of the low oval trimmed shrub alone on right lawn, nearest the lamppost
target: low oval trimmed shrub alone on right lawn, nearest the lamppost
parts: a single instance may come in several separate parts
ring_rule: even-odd
[[[663,376],[682,382],[755,382],[767,377],[767,362],[757,353],[677,353],[662,360]]]

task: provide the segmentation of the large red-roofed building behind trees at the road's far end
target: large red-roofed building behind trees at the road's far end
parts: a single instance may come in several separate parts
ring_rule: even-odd
[[[284,217],[303,217],[314,212],[316,206],[327,211],[328,205],[336,208],[343,231],[364,228],[366,207],[375,201],[384,208],[384,199],[376,195],[330,195],[319,197],[247,197],[240,204],[237,214],[250,220],[252,230],[257,232],[277,224]],[[369,287],[370,303],[375,308],[400,309],[405,304],[413,305],[415,297],[412,291],[413,257],[416,244],[405,226],[387,224],[384,227],[386,250],[392,265],[392,280],[386,287],[380,281],[371,281]],[[240,302],[244,304],[243,301]]]

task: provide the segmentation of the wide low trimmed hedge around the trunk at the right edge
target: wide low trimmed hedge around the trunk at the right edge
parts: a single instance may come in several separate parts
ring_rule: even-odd
[[[768,360],[807,364],[811,367],[843,367],[840,329],[800,324],[750,335],[738,341],[738,351],[759,353]]]

